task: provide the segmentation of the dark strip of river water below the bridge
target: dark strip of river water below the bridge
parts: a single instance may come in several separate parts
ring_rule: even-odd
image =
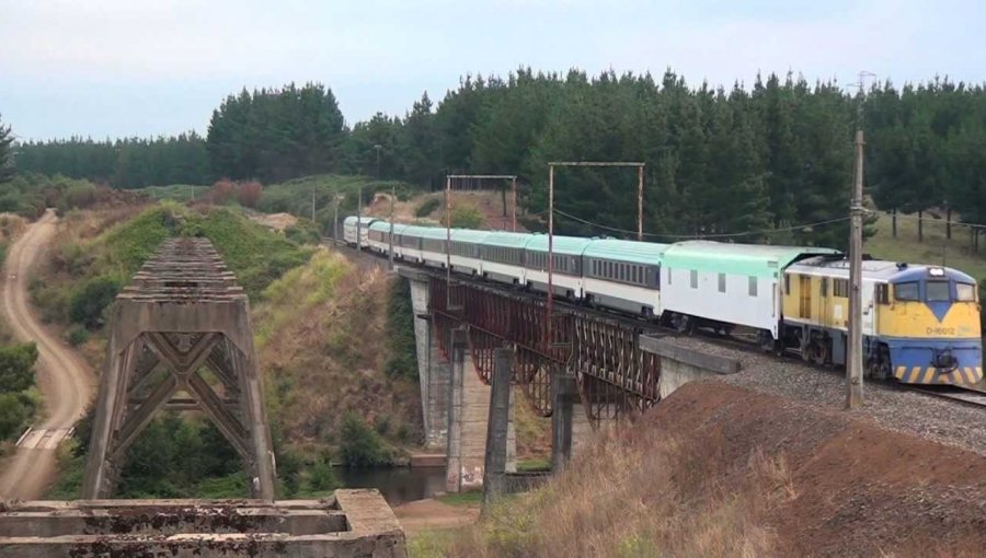
[[[445,491],[445,467],[336,467],[333,473],[345,488],[376,488],[391,507]]]

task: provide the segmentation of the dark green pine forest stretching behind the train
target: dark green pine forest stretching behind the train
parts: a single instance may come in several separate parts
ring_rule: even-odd
[[[335,173],[433,189],[447,173],[517,174],[536,217],[547,206],[549,161],[642,161],[644,228],[655,240],[841,246],[847,224],[834,220],[846,214],[858,125],[876,207],[956,208],[959,220],[986,222],[986,90],[943,78],[859,93],[793,73],[724,89],[670,71],[658,79],[521,68],[465,77],[437,105],[425,93],[402,116],[378,113],[352,126],[330,88],[289,84],[228,96],[205,138],[73,138],[14,149],[21,171],[122,188]],[[635,229],[635,173],[559,171],[560,230],[600,233],[580,219]]]

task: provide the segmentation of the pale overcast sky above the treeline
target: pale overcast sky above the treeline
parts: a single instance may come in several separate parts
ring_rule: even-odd
[[[742,4],[742,5],[740,5]],[[22,139],[205,133],[229,93],[328,84],[352,125],[466,73],[668,67],[847,84],[986,81],[986,2],[0,0],[0,115]]]

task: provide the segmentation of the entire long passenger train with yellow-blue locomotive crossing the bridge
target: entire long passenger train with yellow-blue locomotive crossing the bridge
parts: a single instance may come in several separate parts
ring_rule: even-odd
[[[548,292],[548,236],[393,224],[355,217],[345,242],[411,264]],[[555,235],[555,298],[629,314],[683,333],[743,333],[768,351],[845,365],[849,263],[814,246],[684,241],[672,244]],[[448,253],[446,253],[448,249]],[[983,380],[976,280],[943,266],[864,259],[865,374],[905,384]]]

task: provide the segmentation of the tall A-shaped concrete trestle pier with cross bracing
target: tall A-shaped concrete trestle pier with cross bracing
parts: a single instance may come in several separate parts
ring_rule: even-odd
[[[205,411],[242,456],[253,496],[274,499],[246,295],[206,239],[164,241],[116,298],[83,498],[113,495],[127,447],[160,409]]]

